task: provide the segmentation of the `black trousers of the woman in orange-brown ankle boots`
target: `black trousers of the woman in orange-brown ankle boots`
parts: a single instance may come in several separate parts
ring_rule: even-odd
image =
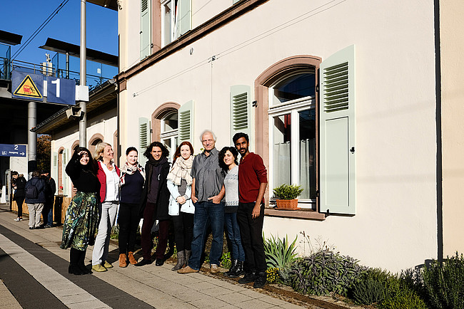
[[[119,205],[119,254],[135,251],[138,218],[138,204]]]

